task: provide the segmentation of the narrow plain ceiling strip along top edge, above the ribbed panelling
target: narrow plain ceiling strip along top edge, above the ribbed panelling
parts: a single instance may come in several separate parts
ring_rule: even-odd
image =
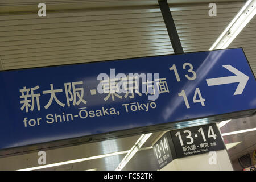
[[[17,13],[22,11],[38,11],[40,0],[2,0],[0,13]],[[211,3],[211,0],[167,0],[170,5]],[[241,0],[217,0],[214,2],[241,2]],[[127,6],[158,6],[157,0],[45,0],[47,10],[95,9]]]

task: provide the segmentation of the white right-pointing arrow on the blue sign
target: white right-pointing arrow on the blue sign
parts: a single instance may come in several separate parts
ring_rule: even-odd
[[[232,67],[232,65],[229,65],[229,64],[222,65],[222,67],[224,67],[224,68],[228,69],[230,72],[234,73],[235,76],[206,79],[208,86],[233,84],[233,83],[239,82],[234,95],[242,94],[243,89],[245,89],[245,85],[247,84],[247,81],[249,80],[249,76],[238,71],[236,68]]]

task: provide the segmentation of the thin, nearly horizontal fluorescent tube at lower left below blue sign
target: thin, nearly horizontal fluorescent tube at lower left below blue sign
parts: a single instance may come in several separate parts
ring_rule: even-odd
[[[86,160],[105,158],[105,157],[113,156],[113,155],[127,154],[128,152],[129,152],[129,150],[121,151],[121,152],[113,152],[113,153],[110,153],[110,154],[97,155],[97,156],[92,156],[92,157],[89,157],[89,158],[68,160],[68,161],[60,162],[60,163],[53,163],[53,164],[47,164],[47,165],[43,165],[43,166],[31,167],[31,168],[26,168],[26,169],[19,169],[18,171],[32,171],[32,170],[37,170],[37,169],[61,166],[61,165],[65,165],[65,164],[72,164],[72,163],[77,163],[77,162],[83,162],[83,161],[86,161]]]

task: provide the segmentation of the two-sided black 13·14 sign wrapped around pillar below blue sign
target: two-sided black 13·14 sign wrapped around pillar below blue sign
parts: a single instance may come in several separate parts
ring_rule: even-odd
[[[168,131],[153,145],[159,169],[177,158],[224,149],[216,123]]]

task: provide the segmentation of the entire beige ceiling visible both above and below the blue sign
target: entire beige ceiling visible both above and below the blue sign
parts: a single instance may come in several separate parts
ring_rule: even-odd
[[[204,3],[203,3],[204,2]],[[168,1],[184,52],[206,51],[225,29],[245,1],[215,1],[217,16],[208,15],[211,1]],[[39,1],[0,2],[0,69],[32,68],[85,63],[130,57],[174,53],[155,0],[46,0],[47,18],[39,18]],[[256,73],[256,18],[230,44],[243,47]],[[233,119],[222,133],[255,127],[256,117]],[[152,143],[154,133],[124,170],[156,170]],[[46,170],[114,170],[141,135],[47,150],[46,163],[89,158],[123,151],[123,154],[85,160]],[[255,131],[228,135],[225,143],[240,142],[230,148],[231,160],[255,148]],[[0,158],[0,170],[38,166],[38,153]]]

